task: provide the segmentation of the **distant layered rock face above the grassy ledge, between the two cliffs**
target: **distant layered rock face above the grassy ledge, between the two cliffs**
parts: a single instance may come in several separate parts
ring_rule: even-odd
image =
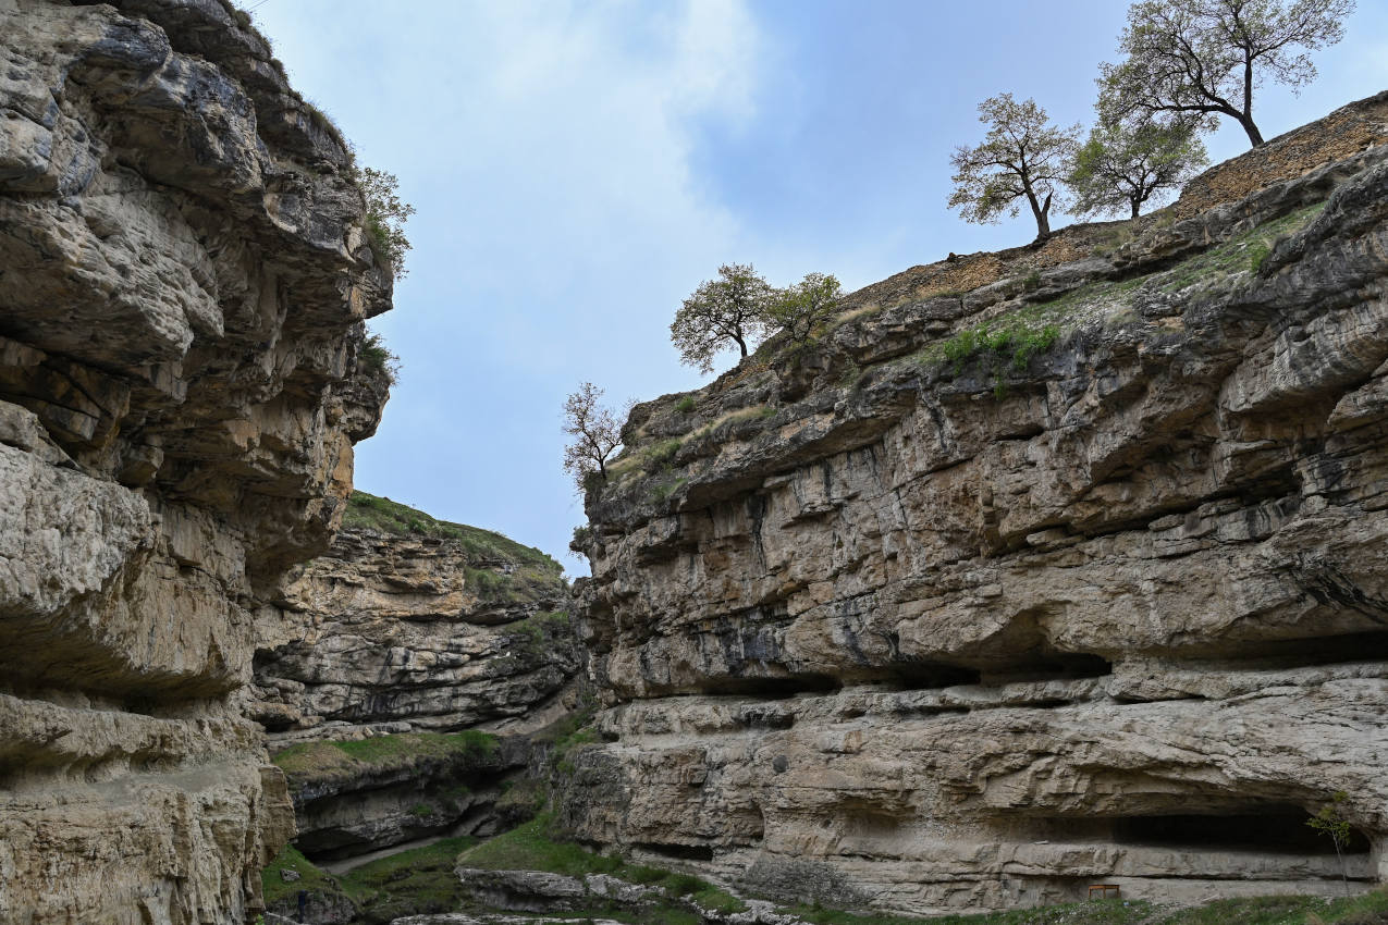
[[[566,602],[543,552],[358,492],[328,553],[261,614],[254,716],[278,743],[537,729],[580,664]]]

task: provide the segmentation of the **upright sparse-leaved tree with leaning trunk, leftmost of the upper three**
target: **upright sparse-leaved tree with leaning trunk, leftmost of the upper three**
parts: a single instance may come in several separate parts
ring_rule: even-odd
[[[1016,216],[1019,202],[1031,207],[1037,240],[1051,236],[1051,207],[1058,205],[1065,166],[1078,146],[1080,126],[1051,125],[1035,100],[1016,103],[1010,93],[979,104],[979,121],[988,135],[977,147],[956,147],[949,208],[966,222],[985,225],[1006,214]]]

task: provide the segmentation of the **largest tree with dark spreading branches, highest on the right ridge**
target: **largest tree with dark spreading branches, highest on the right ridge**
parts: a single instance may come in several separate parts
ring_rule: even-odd
[[[1335,44],[1355,0],[1142,0],[1128,7],[1120,64],[1105,64],[1106,119],[1183,112],[1228,116],[1253,147],[1253,90],[1267,78],[1292,90],[1316,79],[1306,51]]]

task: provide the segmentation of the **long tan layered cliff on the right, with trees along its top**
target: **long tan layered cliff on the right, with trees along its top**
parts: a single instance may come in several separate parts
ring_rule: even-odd
[[[1388,875],[1385,140],[1388,94],[637,406],[568,825],[924,913],[1338,889],[1344,790]]]

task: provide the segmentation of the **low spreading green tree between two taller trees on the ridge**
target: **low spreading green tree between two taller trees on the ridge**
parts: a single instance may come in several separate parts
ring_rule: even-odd
[[[1178,190],[1209,162],[1191,119],[1099,122],[1074,155],[1066,183],[1076,215],[1131,209],[1167,190]]]

